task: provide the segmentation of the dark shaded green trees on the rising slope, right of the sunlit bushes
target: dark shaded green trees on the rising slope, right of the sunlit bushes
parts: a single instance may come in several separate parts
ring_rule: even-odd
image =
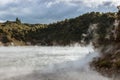
[[[65,19],[64,21],[49,24],[45,28],[30,31],[27,37],[31,37],[32,40],[30,40],[34,44],[40,43],[41,45],[81,43],[82,34],[88,33],[90,24],[99,24],[97,33],[99,34],[99,40],[103,40],[107,28],[113,24],[115,18],[115,13],[86,13],[74,19]],[[90,40],[91,38],[89,36],[85,38],[85,42],[87,43]]]

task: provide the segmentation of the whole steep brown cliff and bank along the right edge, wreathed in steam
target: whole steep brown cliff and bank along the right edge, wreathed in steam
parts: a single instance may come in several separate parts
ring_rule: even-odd
[[[99,44],[97,49],[100,49],[101,57],[91,63],[91,66],[102,75],[114,78],[120,75],[120,15],[117,14],[117,17],[114,24],[107,29],[105,40],[101,40],[104,45],[96,42]]]

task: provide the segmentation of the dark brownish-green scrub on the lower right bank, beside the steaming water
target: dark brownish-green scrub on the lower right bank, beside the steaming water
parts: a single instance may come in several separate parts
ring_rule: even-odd
[[[94,65],[95,69],[103,75],[107,74],[110,76],[120,73],[120,52],[115,52],[104,53],[102,57],[92,62],[92,66]]]

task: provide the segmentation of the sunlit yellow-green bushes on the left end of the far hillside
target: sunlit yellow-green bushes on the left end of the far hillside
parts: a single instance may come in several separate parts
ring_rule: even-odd
[[[30,32],[42,28],[43,26],[45,25],[22,24],[18,18],[16,18],[16,21],[0,23],[0,41],[7,45],[10,45],[10,43],[26,45],[28,39],[26,36],[30,34]]]

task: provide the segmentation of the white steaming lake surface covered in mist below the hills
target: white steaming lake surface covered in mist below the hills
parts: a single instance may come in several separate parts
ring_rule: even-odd
[[[89,67],[92,46],[0,47],[0,80],[111,80]]]

